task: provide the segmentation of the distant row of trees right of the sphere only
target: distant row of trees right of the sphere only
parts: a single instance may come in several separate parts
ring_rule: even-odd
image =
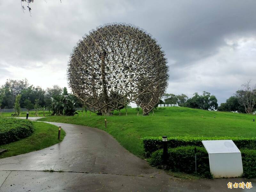
[[[185,94],[174,95],[165,93],[158,104],[169,105],[178,103],[179,106],[198,108],[204,110],[218,110],[238,113],[252,114],[256,111],[256,85],[251,87],[251,81],[242,85],[242,88],[237,90],[233,96],[226,100],[226,103],[221,103],[218,107],[218,100],[209,92],[203,92],[203,95],[194,93],[192,98],[188,99]]]

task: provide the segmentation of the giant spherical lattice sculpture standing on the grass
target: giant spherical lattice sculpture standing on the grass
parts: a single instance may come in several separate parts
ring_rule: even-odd
[[[168,66],[156,39],[127,24],[91,30],[74,47],[68,81],[74,95],[98,114],[135,102],[147,115],[165,92]]]

